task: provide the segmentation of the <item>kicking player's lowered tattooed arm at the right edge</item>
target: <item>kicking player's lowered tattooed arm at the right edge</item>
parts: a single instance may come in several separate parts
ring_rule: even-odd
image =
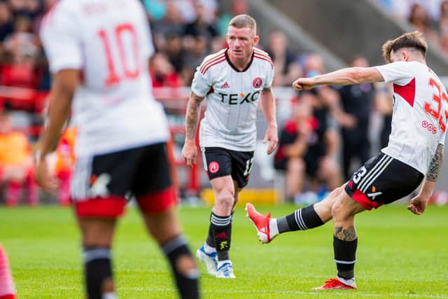
[[[421,190],[419,195],[412,198],[409,207],[409,211],[416,215],[420,215],[425,211],[426,204],[428,204],[428,200],[431,195],[433,195],[433,190],[435,187],[435,183],[439,177],[440,167],[442,167],[443,160],[443,144],[439,144],[437,149],[435,150],[435,154],[431,159],[428,172],[426,172],[425,180],[423,181],[423,186],[421,186]]]

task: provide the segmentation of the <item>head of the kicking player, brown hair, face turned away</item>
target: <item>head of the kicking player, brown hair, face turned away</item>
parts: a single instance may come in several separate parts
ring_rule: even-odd
[[[420,32],[408,32],[386,41],[383,47],[386,62],[425,60],[428,44]]]

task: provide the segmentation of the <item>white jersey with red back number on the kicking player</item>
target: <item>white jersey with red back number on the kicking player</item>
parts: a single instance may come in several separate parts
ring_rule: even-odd
[[[437,145],[444,144],[447,90],[420,62],[393,62],[376,68],[386,83],[393,83],[392,132],[381,151],[426,174]]]

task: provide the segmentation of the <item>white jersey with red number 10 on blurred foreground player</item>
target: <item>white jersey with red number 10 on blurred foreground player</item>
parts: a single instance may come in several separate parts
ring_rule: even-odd
[[[151,33],[138,0],[61,0],[45,16],[41,39],[52,74],[82,72],[72,104],[77,155],[167,140],[148,74]]]

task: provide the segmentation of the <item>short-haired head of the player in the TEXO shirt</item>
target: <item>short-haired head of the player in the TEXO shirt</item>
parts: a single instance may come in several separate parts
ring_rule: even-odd
[[[257,33],[257,23],[250,15],[237,15],[230,20],[226,40],[230,55],[236,59],[250,57],[253,46],[260,38]]]

